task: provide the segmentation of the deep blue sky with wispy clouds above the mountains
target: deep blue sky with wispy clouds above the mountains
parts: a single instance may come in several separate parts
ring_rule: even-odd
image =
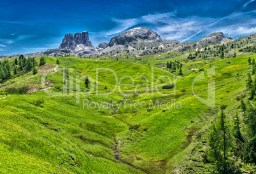
[[[211,32],[256,32],[256,1],[13,1],[0,6],[0,55],[59,48],[68,32],[89,31],[94,46],[132,27],[162,39],[194,41]]]

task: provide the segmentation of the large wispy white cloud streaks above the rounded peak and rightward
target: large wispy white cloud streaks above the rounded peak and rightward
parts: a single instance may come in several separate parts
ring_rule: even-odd
[[[251,3],[251,1],[248,3]],[[224,32],[226,36],[238,37],[256,32],[255,14],[256,10],[249,12],[234,11],[234,13],[222,18],[178,17],[176,11],[173,11],[170,13],[148,14],[130,19],[113,18],[116,27],[106,32],[106,35],[118,34],[135,25],[146,24],[155,30],[162,39],[169,40],[187,41],[219,31]]]

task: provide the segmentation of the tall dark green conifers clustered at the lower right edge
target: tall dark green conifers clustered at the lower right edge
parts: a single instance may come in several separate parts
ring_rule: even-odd
[[[247,164],[256,164],[256,108],[250,102],[255,97],[256,78],[253,81],[250,72],[246,87],[250,91],[247,104],[243,97],[237,98],[241,101],[241,111],[234,112],[232,119],[228,119],[222,108],[220,116],[210,128],[210,149],[206,151],[204,161],[214,163],[220,173],[239,173],[239,167],[235,166],[238,159]]]

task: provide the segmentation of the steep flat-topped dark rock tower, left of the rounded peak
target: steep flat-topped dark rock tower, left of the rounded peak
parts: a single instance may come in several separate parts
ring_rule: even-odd
[[[75,50],[78,45],[92,47],[92,43],[89,40],[89,34],[87,31],[77,32],[75,35],[72,33],[65,34],[62,43],[60,44],[60,49],[70,49]]]

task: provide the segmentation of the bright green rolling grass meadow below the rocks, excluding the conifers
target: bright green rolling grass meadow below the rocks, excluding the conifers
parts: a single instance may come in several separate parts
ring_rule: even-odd
[[[221,108],[229,121],[235,112],[244,120],[241,98],[255,104],[246,88],[254,68],[248,59],[256,59],[248,46],[254,43],[241,39],[211,46],[195,58],[190,55],[196,50],[141,59],[125,52],[118,60],[114,54],[44,57],[45,65],[37,57],[34,75],[27,64],[14,74],[15,58],[1,61],[11,74],[0,88],[0,173],[217,172],[205,157],[211,125]],[[232,48],[232,42],[242,44]],[[183,75],[167,62],[182,66]],[[163,89],[166,84],[174,88]],[[10,97],[4,98],[6,92]],[[241,127],[246,134],[246,122]],[[238,155],[230,159],[236,171],[255,172],[255,163]]]

